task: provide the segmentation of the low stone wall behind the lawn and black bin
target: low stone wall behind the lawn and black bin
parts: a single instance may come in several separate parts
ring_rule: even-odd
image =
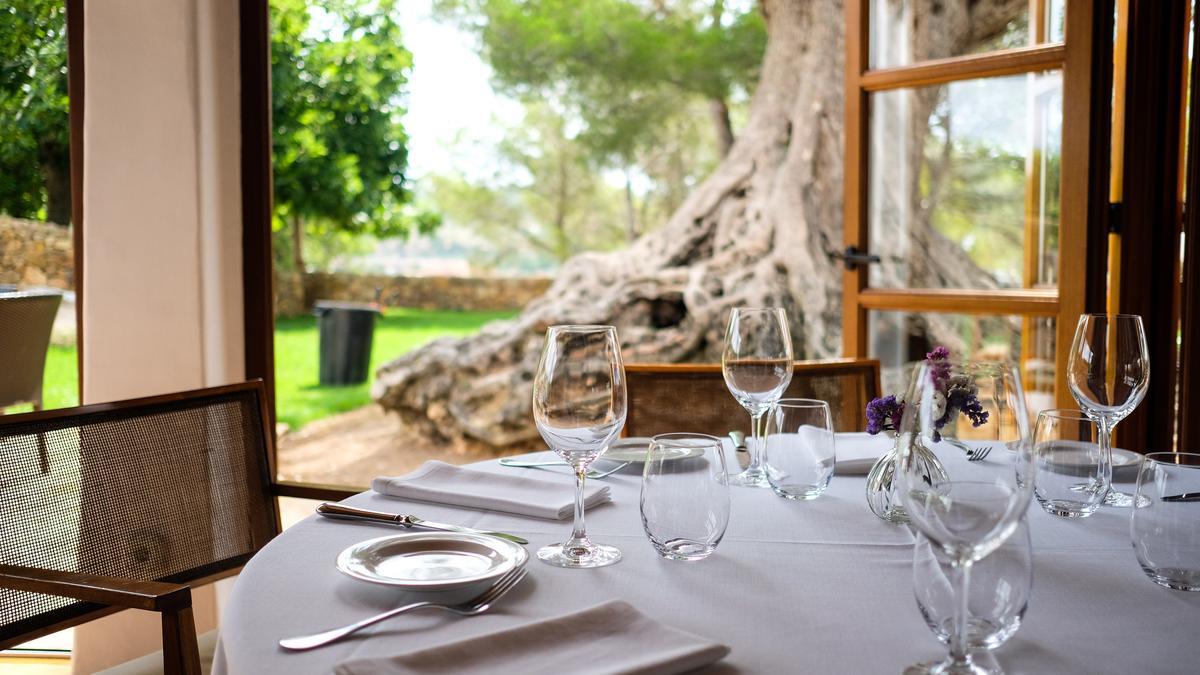
[[[389,307],[425,310],[517,310],[550,288],[548,277],[384,276],[360,274],[278,274],[275,313],[307,313],[317,300],[370,303],[380,289]],[[302,289],[299,286],[302,283]]]

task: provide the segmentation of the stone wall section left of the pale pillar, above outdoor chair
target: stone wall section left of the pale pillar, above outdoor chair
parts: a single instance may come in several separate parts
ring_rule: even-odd
[[[0,214],[0,283],[74,287],[71,231]]]

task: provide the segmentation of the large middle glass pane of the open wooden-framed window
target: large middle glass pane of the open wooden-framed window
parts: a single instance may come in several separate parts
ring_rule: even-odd
[[[870,285],[1057,285],[1060,72],[871,95]]]

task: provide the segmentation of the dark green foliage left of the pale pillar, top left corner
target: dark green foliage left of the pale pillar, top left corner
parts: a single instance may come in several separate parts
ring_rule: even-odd
[[[0,6],[0,211],[67,225],[71,216],[66,5]]]

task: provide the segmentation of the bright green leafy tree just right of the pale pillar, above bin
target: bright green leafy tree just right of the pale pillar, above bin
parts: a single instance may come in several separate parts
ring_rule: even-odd
[[[305,237],[335,246],[438,223],[410,205],[401,118],[412,55],[396,11],[396,0],[271,2],[275,227],[290,229],[299,269]]]

